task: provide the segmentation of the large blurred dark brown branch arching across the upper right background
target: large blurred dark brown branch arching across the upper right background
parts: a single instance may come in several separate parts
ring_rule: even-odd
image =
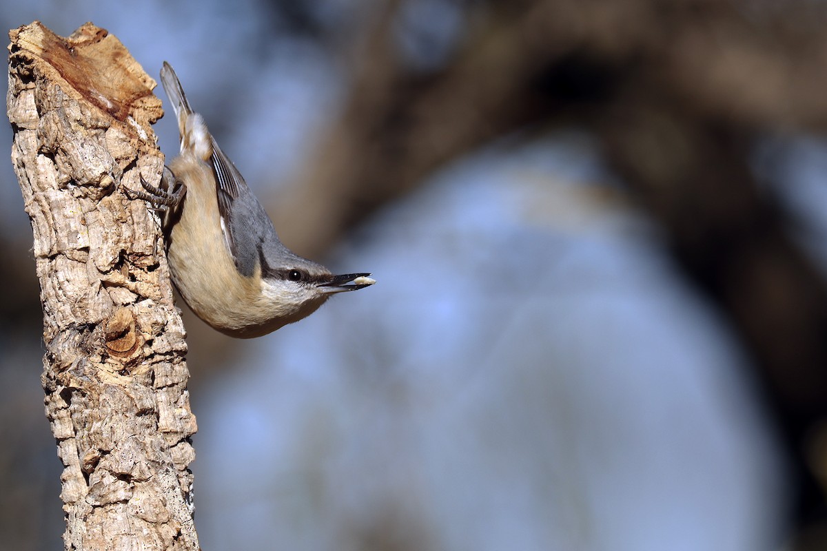
[[[827,287],[749,157],[762,133],[825,127],[827,6],[463,2],[461,47],[418,74],[394,48],[403,4],[388,3],[352,55],[342,115],[276,207],[284,240],[318,252],[498,136],[590,129],[677,263],[729,316],[807,473],[809,438],[827,418]],[[801,480],[807,518],[824,493]]]

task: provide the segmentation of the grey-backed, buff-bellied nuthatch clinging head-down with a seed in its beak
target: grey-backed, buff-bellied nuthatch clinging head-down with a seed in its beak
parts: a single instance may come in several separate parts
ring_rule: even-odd
[[[178,122],[180,153],[160,186],[141,177],[146,192],[139,195],[166,211],[170,275],[196,316],[248,339],[309,316],[334,294],[375,283],[370,273],[334,275],[284,246],[167,62],[160,82]]]

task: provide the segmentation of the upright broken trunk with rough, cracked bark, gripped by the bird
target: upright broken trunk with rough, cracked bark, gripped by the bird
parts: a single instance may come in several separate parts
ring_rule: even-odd
[[[184,326],[158,221],[155,81],[88,23],[10,32],[12,163],[34,233],[65,549],[198,549]]]

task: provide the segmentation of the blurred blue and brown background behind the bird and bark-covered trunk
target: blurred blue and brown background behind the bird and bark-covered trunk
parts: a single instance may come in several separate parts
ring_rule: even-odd
[[[170,61],[282,240],[378,281],[251,341],[180,304],[204,549],[827,549],[827,3],[0,4]],[[0,549],[60,549],[0,178]]]

